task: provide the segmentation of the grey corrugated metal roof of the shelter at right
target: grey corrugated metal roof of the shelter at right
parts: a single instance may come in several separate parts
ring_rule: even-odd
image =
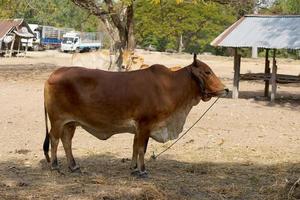
[[[213,46],[300,49],[300,15],[247,15],[220,34]]]

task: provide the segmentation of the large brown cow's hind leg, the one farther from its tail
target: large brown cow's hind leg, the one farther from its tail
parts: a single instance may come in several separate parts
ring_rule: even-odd
[[[74,123],[68,123],[64,125],[63,134],[61,136],[61,141],[63,143],[63,147],[66,153],[66,157],[68,160],[69,169],[72,172],[79,172],[80,168],[76,164],[75,159],[72,153],[72,138],[74,136],[76,126]]]

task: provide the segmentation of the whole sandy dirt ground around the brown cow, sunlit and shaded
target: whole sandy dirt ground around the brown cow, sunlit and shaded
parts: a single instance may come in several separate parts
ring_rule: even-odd
[[[188,65],[188,54],[139,51],[147,64]],[[231,88],[233,59],[199,56]],[[287,199],[300,178],[300,84],[279,85],[277,100],[262,98],[264,83],[242,81],[238,100],[222,98],[182,140],[149,141],[148,179],[130,175],[133,135],[107,141],[78,128],[73,153],[82,173],[67,169],[62,145],[60,173],[45,161],[43,83],[71,54],[30,52],[0,58],[0,199]],[[298,75],[300,61],[278,59],[278,72]],[[242,59],[242,73],[263,72],[263,59]],[[180,83],[178,83],[180,84]],[[187,129],[212,103],[200,102]],[[300,198],[300,186],[290,191]]]

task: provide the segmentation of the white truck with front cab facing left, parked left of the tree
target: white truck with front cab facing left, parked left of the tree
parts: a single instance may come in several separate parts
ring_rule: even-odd
[[[67,32],[63,35],[60,49],[63,52],[86,52],[101,48],[101,33]]]

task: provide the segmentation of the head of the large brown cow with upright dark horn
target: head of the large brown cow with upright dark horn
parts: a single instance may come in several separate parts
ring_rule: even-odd
[[[203,101],[208,101],[214,96],[223,96],[229,92],[210,67],[197,59],[196,54],[194,54],[194,61],[190,65],[190,69],[193,78],[199,85]]]

